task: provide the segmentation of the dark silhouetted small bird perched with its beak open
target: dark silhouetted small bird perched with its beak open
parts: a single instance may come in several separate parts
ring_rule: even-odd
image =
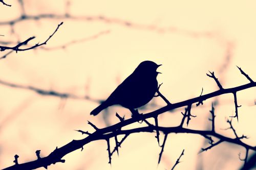
[[[157,68],[162,64],[143,61],[97,108],[91,115],[97,115],[112,105],[121,105],[130,110],[139,108],[152,100],[158,89]]]

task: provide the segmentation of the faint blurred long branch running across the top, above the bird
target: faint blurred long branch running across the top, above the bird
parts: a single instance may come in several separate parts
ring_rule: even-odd
[[[177,33],[185,36],[189,36],[192,38],[199,38],[199,37],[204,37],[204,38],[212,38],[215,36],[218,36],[214,31],[205,31],[205,32],[196,32],[196,31],[190,31],[190,30],[184,30],[180,29],[174,26],[169,26],[169,27],[159,27],[157,25],[152,25],[152,24],[141,24],[141,23],[136,23],[131,20],[125,20],[122,18],[111,18],[109,16],[103,16],[103,15],[82,15],[82,16],[75,16],[70,13],[65,13],[65,14],[52,14],[52,13],[41,13],[37,15],[28,15],[28,14],[23,14],[21,16],[18,16],[14,19],[8,20],[8,21],[2,21],[0,22],[0,25],[10,25],[13,26],[18,22],[22,22],[24,20],[39,20],[39,19],[55,19],[55,20],[63,20],[63,19],[69,19],[69,20],[75,20],[75,21],[87,21],[87,22],[92,22],[92,21],[98,21],[98,22],[103,22],[105,24],[115,24],[127,28],[133,28],[133,29],[139,29],[139,30],[147,30],[151,32],[156,32],[159,34],[163,33]]]

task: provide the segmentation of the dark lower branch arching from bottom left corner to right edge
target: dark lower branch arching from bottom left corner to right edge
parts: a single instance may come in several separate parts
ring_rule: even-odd
[[[95,140],[100,140],[100,139],[104,139],[104,140],[109,140],[110,138],[116,136],[116,135],[130,135],[132,133],[139,133],[139,132],[154,132],[154,130],[156,130],[155,126],[147,126],[147,127],[142,127],[142,128],[135,128],[135,129],[130,129],[130,130],[119,130],[119,131],[113,131],[115,130],[117,127],[121,128],[123,126],[126,126],[126,123],[129,122],[137,122],[137,118],[130,118],[127,120],[124,120],[123,122],[120,122],[116,125],[110,126],[110,127],[106,127],[103,129],[99,129],[97,131],[95,131],[93,134],[89,135],[88,137],[81,139],[81,140],[72,140],[70,143],[64,145],[63,147],[54,150],[49,156],[41,158],[41,159],[37,159],[31,162],[27,162],[27,163],[23,163],[23,164],[18,164],[18,165],[13,165],[10,167],[5,168],[4,170],[10,170],[10,169],[15,169],[15,170],[19,170],[19,169],[34,169],[34,168],[38,168],[38,167],[42,167],[42,166],[48,166],[52,163],[56,163],[56,162],[63,162],[65,160],[62,160],[61,158],[65,155],[67,155],[70,152],[73,152],[77,149],[80,149],[83,147],[83,145],[91,142],[91,141],[95,141]],[[185,128],[181,128],[181,127],[158,127],[159,131],[162,131],[165,134],[169,134],[169,133],[191,133],[191,134],[199,134],[199,135],[211,135],[217,138],[220,138],[222,141],[226,141],[226,142],[231,142],[234,144],[239,144],[245,148],[251,149],[253,151],[256,151],[256,147],[252,147],[244,142],[242,142],[241,140],[237,140],[237,138],[229,138],[229,137],[225,137],[221,134],[212,132],[212,131],[200,131],[200,130],[191,130],[191,129],[185,129]],[[167,137],[167,136],[166,136]],[[165,139],[166,140],[166,139]],[[108,144],[109,146],[109,144]],[[109,149],[109,147],[108,147]],[[163,150],[163,148],[162,148]],[[108,151],[110,152],[110,151]],[[111,153],[109,154],[109,158],[111,161]]]

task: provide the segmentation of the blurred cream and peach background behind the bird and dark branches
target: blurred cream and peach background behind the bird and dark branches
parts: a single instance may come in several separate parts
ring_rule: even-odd
[[[171,103],[181,102],[218,90],[206,76],[215,71],[224,88],[248,83],[237,66],[254,81],[256,44],[256,2],[254,1],[6,1],[0,4],[1,45],[14,46],[31,36],[28,46],[44,42],[63,21],[46,45],[34,50],[11,53],[0,60],[0,169],[49,155],[73,139],[85,135],[74,130],[93,132],[87,120],[99,128],[118,123],[115,112],[131,117],[129,110],[112,106],[91,116],[98,106],[138,64],[151,60],[163,64],[158,82],[160,91]],[[43,15],[47,14],[47,15]],[[48,14],[52,14],[49,16]],[[24,15],[25,18],[16,20]],[[30,17],[29,17],[30,16]],[[39,16],[35,19],[31,16]],[[44,17],[45,16],[45,17]],[[14,21],[13,25],[10,21]],[[1,56],[8,51],[0,52]],[[24,88],[11,87],[16,84]],[[69,93],[77,98],[41,95],[27,87]],[[83,99],[88,96],[88,99]],[[255,145],[255,88],[238,92],[239,135]],[[197,117],[188,128],[207,130],[211,123],[211,102],[216,106],[216,131],[233,137],[226,118],[234,115],[233,95],[225,94],[191,110]],[[147,113],[165,106],[158,98],[140,108]],[[184,108],[159,116],[159,125],[180,124]],[[151,120],[152,121],[152,120]],[[130,125],[127,128],[143,126]],[[72,152],[48,169],[170,169],[182,150],[185,155],[175,169],[239,169],[245,149],[222,143],[207,147],[199,135],[168,135],[161,163],[161,148],[153,133],[130,135],[108,164],[105,141],[94,141],[84,150]],[[120,140],[121,138],[119,138]],[[161,142],[163,135],[160,136]],[[113,141],[112,141],[113,142]],[[114,142],[112,144],[114,147]],[[44,168],[38,168],[44,169]]]

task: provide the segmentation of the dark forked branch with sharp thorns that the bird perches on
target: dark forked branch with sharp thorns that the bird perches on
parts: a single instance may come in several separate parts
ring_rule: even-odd
[[[212,73],[212,77],[213,77],[213,73]],[[234,143],[234,144],[238,144],[241,145],[242,147],[246,148],[246,150],[252,150],[252,151],[256,151],[256,147],[255,146],[251,146],[248,145],[246,143],[244,143],[241,139],[243,138],[247,138],[246,136],[242,135],[239,136],[236,132],[236,130],[233,128],[232,124],[231,124],[231,120],[227,120],[227,123],[230,125],[230,127],[228,129],[232,129],[235,138],[231,138],[231,137],[227,137],[224,135],[221,135],[219,133],[216,133],[216,131],[214,130],[215,126],[214,126],[214,118],[215,118],[215,114],[214,114],[214,106],[212,105],[211,111],[210,113],[212,114],[212,129],[211,130],[192,130],[192,129],[187,129],[187,128],[183,128],[182,125],[184,123],[185,118],[188,118],[189,110],[191,108],[191,105],[194,103],[199,102],[200,100],[206,100],[209,98],[213,98],[214,96],[218,96],[218,95],[222,95],[222,94],[226,94],[226,93],[235,93],[247,88],[251,88],[251,87],[255,87],[256,86],[256,82],[250,82],[248,84],[245,85],[241,85],[238,87],[233,87],[233,88],[227,88],[227,89],[222,89],[222,90],[218,90],[215,92],[211,92],[205,95],[200,95],[197,98],[193,98],[193,99],[189,99],[183,102],[179,102],[179,103],[174,103],[172,105],[167,105],[165,107],[162,107],[158,110],[155,110],[153,112],[147,113],[147,114],[139,114],[139,116],[134,116],[130,119],[122,119],[119,117],[120,122],[112,125],[110,127],[105,127],[102,129],[97,128],[94,124],[88,122],[88,124],[90,124],[94,129],[95,132],[94,133],[89,133],[89,132],[84,132],[84,131],[79,131],[82,134],[86,133],[88,134],[88,136],[84,139],[81,140],[72,140],[70,143],[64,145],[61,148],[56,148],[50,155],[44,157],[44,158],[39,158],[37,160],[31,161],[31,162],[27,162],[27,163],[22,163],[22,164],[15,164],[13,166],[7,167],[5,169],[34,169],[37,167],[46,167],[52,163],[56,163],[56,162],[65,162],[65,160],[62,160],[61,158],[63,156],[65,156],[66,154],[73,152],[77,149],[82,148],[83,146],[91,141],[95,141],[95,140],[106,140],[107,144],[108,144],[108,153],[109,153],[109,163],[111,163],[111,156],[113,155],[113,153],[115,151],[118,150],[118,147],[120,147],[121,143],[125,140],[125,138],[127,136],[129,136],[130,134],[133,133],[139,133],[139,132],[149,132],[149,133],[153,133],[153,132],[162,132],[165,136],[164,136],[164,140],[163,140],[163,144],[161,145],[161,152],[159,154],[159,161],[161,160],[161,156],[163,154],[163,150],[164,150],[164,145],[167,139],[167,135],[170,133],[190,133],[190,134],[198,134],[201,135],[203,137],[205,137],[206,139],[210,140],[210,146],[202,149],[203,151],[206,151],[212,147],[215,147],[216,145],[218,145],[221,142],[230,142],[230,143]],[[147,118],[155,118],[157,117],[159,114],[165,113],[166,111],[169,110],[173,110],[179,107],[184,107],[187,106],[187,108],[185,109],[185,113],[183,114],[183,118],[181,120],[181,124],[180,126],[177,127],[159,127],[157,125],[157,123],[154,125],[152,124],[148,124],[148,126],[146,127],[140,127],[140,128],[135,128],[135,129],[128,129],[128,130],[122,130],[123,127],[139,122],[140,120],[145,120]],[[117,114],[118,115],[118,114]],[[190,114],[191,116],[191,114]],[[117,140],[117,136],[118,135],[125,135],[123,137],[123,139],[118,142]],[[111,152],[110,149],[110,138],[114,137],[116,140],[116,147],[114,148],[114,150]],[[214,140],[212,140],[211,137],[215,137],[218,138],[218,141],[215,142]],[[182,155],[181,155],[182,156]],[[37,157],[39,157],[39,153],[37,153]],[[15,161],[17,162],[17,156],[15,157]],[[179,162],[179,161],[178,161]]]

